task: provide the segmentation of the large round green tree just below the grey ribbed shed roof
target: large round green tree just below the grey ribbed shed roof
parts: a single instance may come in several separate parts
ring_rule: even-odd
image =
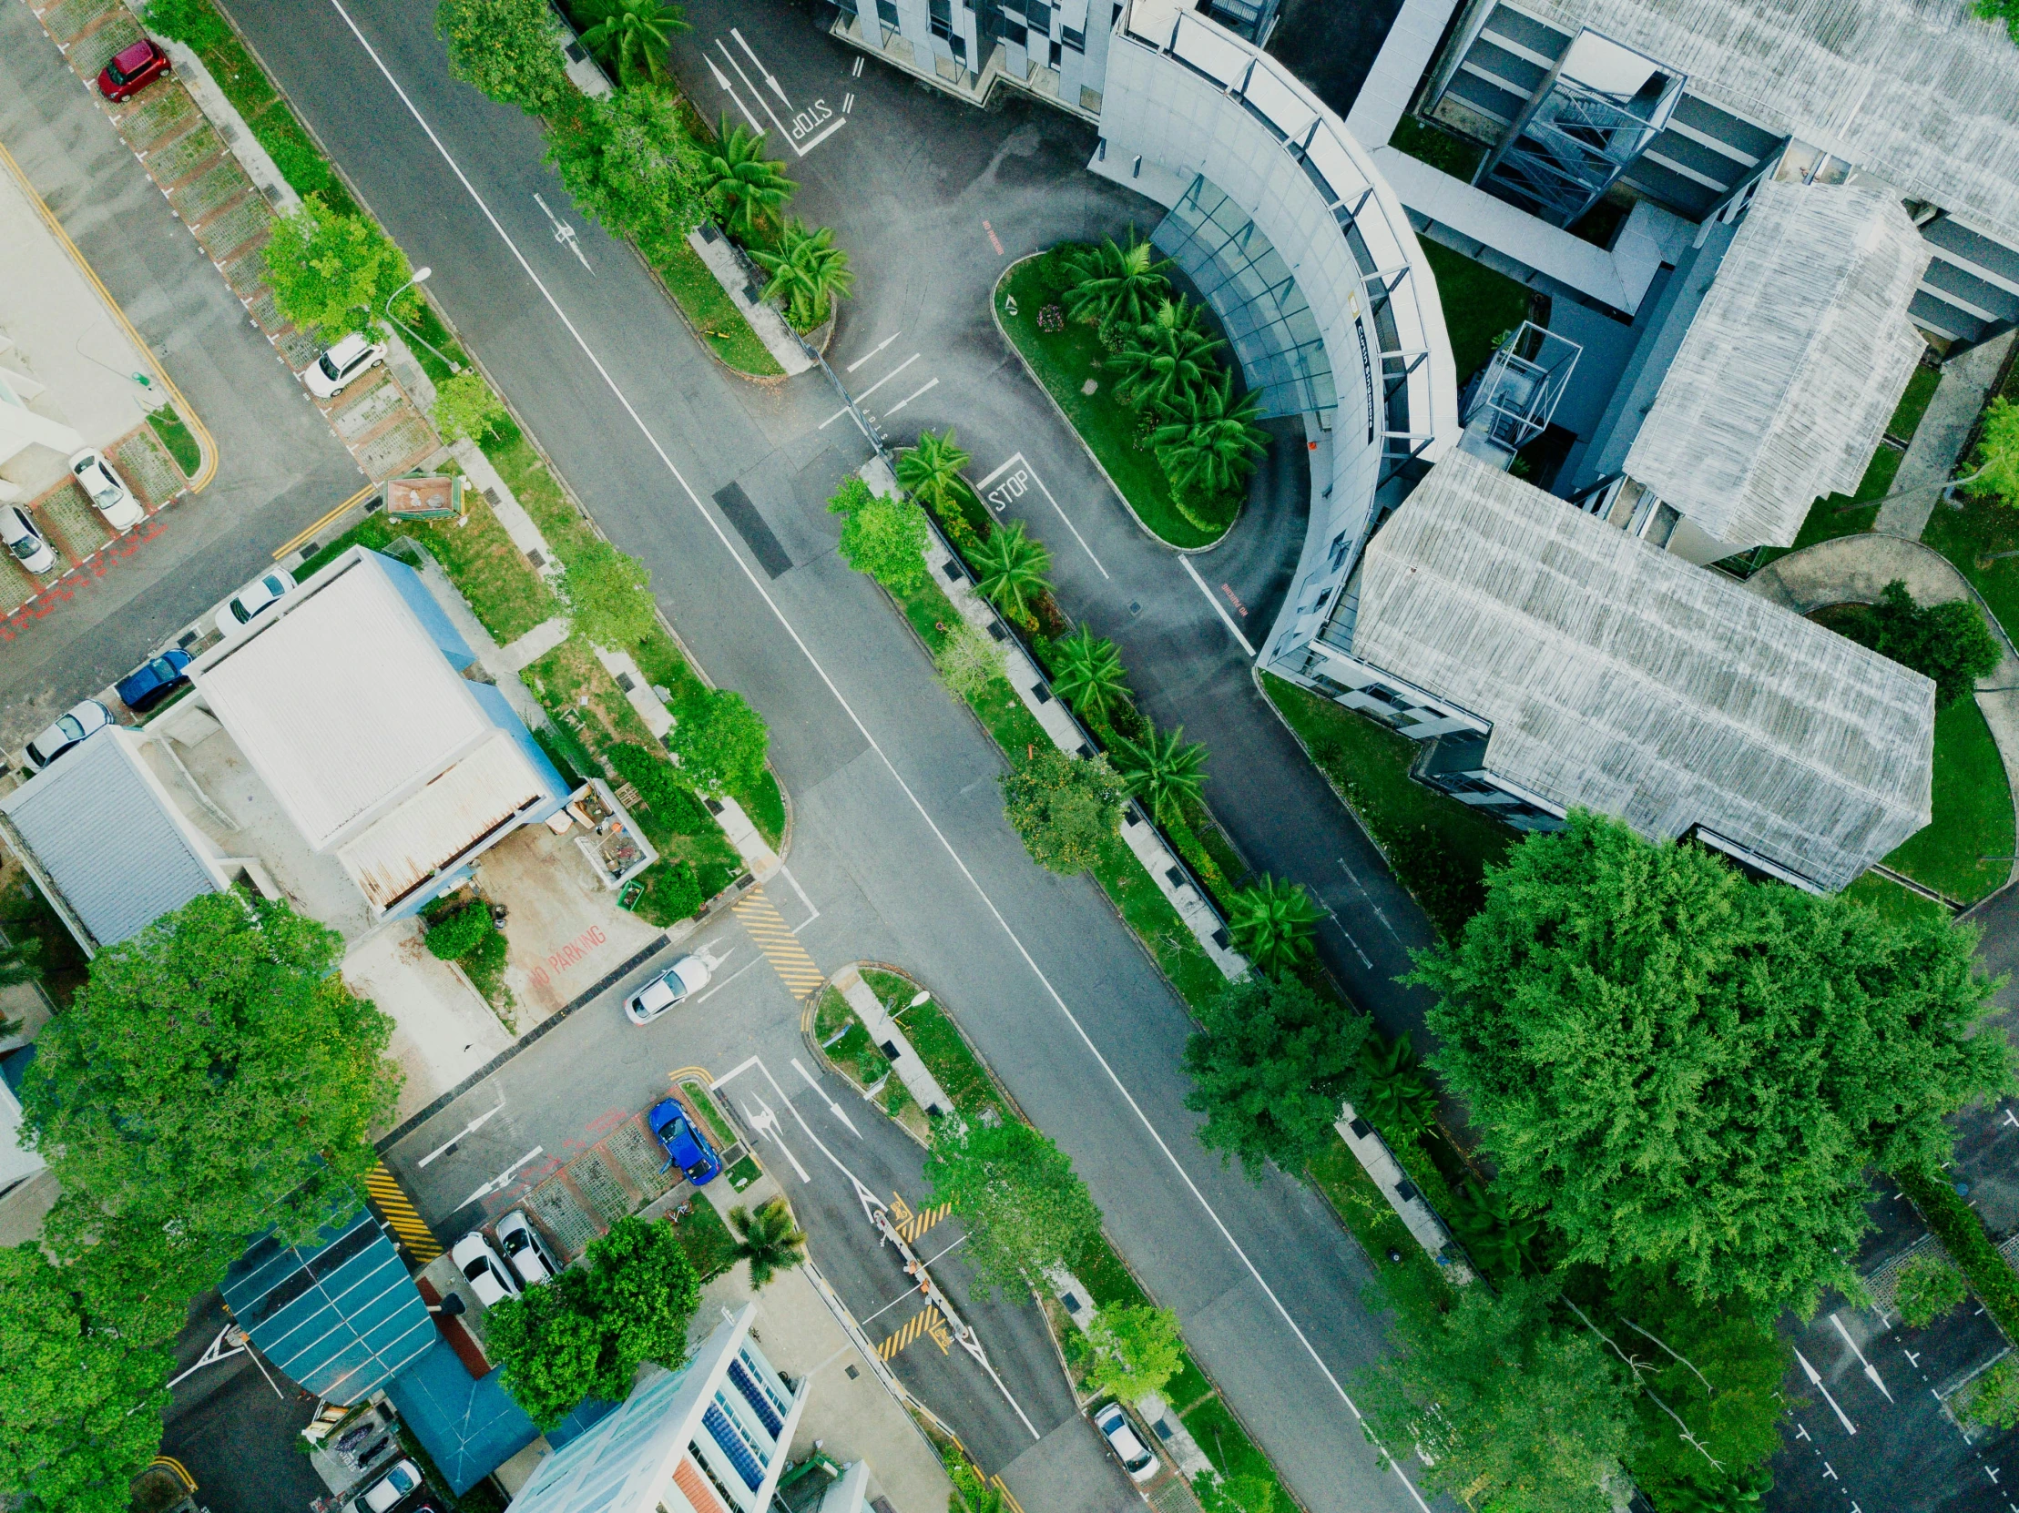
[[[242,1245],[303,1235],[376,1164],[392,1021],[355,997],[343,938],[287,904],[206,894],[91,962],[36,1041],[28,1140],[65,1192]]]

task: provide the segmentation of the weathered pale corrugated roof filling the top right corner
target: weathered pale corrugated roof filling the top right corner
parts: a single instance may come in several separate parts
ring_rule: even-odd
[[[1520,0],[2019,246],[2019,50],[1973,0]]]

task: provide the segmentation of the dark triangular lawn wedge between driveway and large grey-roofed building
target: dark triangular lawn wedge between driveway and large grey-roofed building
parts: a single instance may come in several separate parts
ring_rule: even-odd
[[[1417,744],[1365,714],[1264,676],[1262,686],[1304,740],[1318,771],[1361,817],[1448,940],[1482,902],[1482,876],[1514,843],[1514,831],[1478,809],[1409,779]]]

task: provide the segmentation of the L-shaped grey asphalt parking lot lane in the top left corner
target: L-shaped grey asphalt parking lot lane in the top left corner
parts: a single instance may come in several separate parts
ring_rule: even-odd
[[[365,476],[24,4],[0,6],[0,141],[218,442],[166,529],[0,656],[0,750],[131,672]]]

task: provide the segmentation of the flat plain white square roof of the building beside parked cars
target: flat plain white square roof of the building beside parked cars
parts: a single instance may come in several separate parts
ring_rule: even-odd
[[[376,819],[495,728],[371,553],[323,575],[273,625],[192,670],[317,849]]]

